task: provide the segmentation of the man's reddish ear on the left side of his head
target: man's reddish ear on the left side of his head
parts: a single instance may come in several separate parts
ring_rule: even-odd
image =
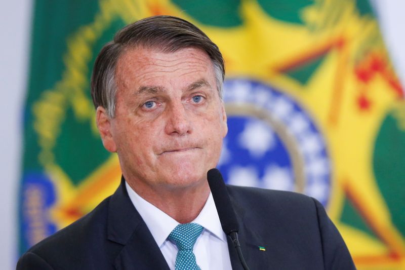
[[[116,152],[114,138],[111,133],[111,119],[107,115],[105,108],[98,106],[96,110],[96,123],[104,148],[110,152]]]

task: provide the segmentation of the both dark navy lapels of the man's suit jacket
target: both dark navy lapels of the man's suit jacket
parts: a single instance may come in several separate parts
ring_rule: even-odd
[[[266,252],[259,250],[263,241],[249,226],[249,214],[246,214],[231,193],[229,196],[239,223],[238,238],[246,263],[251,269],[266,268]],[[107,222],[108,240],[123,245],[114,261],[116,269],[170,269],[148,227],[132,204],[124,178],[110,199]],[[242,270],[229,238],[228,248],[232,269]]]

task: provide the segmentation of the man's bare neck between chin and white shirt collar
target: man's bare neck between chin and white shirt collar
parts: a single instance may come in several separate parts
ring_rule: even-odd
[[[144,187],[128,181],[131,188],[144,200],[168,214],[179,223],[193,221],[203,209],[210,195],[207,181],[193,186],[182,187]]]

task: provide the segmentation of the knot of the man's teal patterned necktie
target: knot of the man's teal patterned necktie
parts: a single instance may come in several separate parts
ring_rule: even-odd
[[[179,224],[169,235],[179,250],[193,250],[195,241],[203,232],[203,226],[197,223]]]

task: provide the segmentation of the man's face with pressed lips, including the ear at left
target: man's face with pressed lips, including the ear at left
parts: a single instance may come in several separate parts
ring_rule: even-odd
[[[202,185],[227,133],[213,64],[194,48],[129,49],[116,72],[115,117],[97,109],[104,146],[116,151],[133,186]]]

